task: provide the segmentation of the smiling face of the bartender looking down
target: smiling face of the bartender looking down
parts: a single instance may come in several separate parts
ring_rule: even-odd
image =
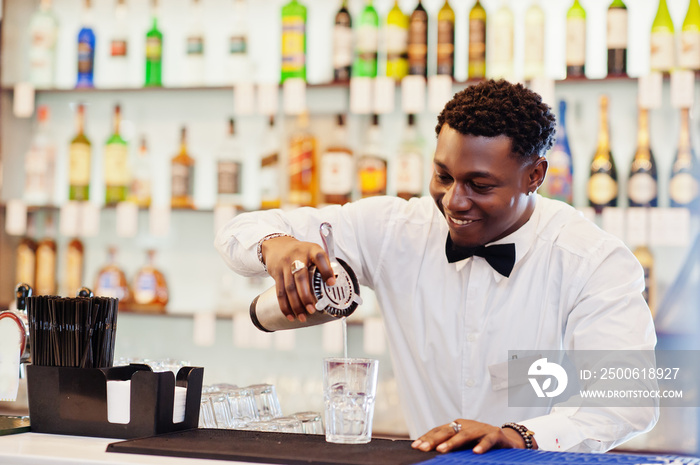
[[[452,242],[476,247],[520,228],[534,210],[544,158],[512,153],[507,136],[461,134],[443,125],[438,136],[430,195],[447,220]]]

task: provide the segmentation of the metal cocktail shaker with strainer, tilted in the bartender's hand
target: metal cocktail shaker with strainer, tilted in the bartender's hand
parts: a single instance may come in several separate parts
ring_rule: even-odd
[[[280,309],[275,286],[267,289],[250,304],[250,319],[259,330],[274,332],[319,325],[351,315],[362,303],[355,272],[345,261],[335,257],[331,225],[321,224],[320,232],[335,273],[335,284],[328,286],[316,266],[309,267],[311,292],[316,298],[316,312],[307,314],[304,322],[298,319],[289,321]]]

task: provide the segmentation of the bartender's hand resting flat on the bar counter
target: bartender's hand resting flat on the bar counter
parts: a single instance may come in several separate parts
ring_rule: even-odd
[[[476,444],[474,449],[472,449],[476,454],[483,454],[490,449],[525,448],[523,438],[511,428],[499,428],[486,423],[463,419],[455,420],[454,423],[458,426],[453,428],[450,424],[446,424],[431,429],[413,441],[411,447],[426,452],[433,449],[438,452],[450,452],[469,444]],[[459,429],[459,432],[456,429]],[[537,448],[534,440],[533,448]]]

